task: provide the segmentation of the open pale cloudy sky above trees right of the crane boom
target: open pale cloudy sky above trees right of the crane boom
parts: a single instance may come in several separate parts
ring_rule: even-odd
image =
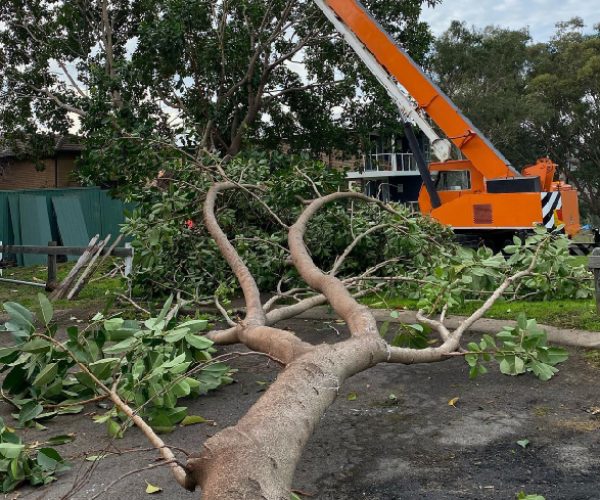
[[[600,0],[443,0],[423,10],[422,18],[434,35],[443,33],[452,20],[483,28],[488,25],[528,27],[535,42],[546,42],[559,21],[581,17],[587,29],[600,23]]]

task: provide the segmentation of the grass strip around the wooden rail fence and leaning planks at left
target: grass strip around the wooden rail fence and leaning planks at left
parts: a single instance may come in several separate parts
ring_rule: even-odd
[[[67,276],[73,265],[73,262],[58,265],[58,281],[62,281]],[[107,264],[105,268],[99,269],[92,279],[103,276],[111,267],[112,264]],[[47,267],[9,267],[2,270],[2,277],[44,284],[47,278]],[[123,292],[124,288],[125,284],[121,278],[102,278],[88,282],[76,300],[57,300],[54,305],[56,309],[90,308],[95,305],[102,308],[107,292]],[[46,293],[42,287],[0,281],[0,303],[18,302],[27,308],[35,309],[38,304],[37,294],[40,292]]]

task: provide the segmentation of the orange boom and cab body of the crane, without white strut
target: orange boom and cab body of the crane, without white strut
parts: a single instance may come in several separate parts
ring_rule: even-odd
[[[549,229],[565,226],[572,236],[579,232],[577,191],[553,180],[556,165],[547,158],[515,170],[490,141],[425,75],[357,0],[325,0],[339,21],[372,54],[377,63],[406,89],[460,151],[465,160],[431,163],[436,174],[441,205],[435,207],[423,187],[421,212],[458,231],[529,230],[537,224]],[[452,184],[452,179],[461,183]],[[450,180],[441,182],[440,180]]]

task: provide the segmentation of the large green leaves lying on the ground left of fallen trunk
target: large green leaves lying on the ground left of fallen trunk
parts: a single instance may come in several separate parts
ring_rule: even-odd
[[[0,349],[0,371],[6,372],[2,389],[18,409],[19,424],[40,427],[56,415],[83,411],[86,402],[107,397],[100,381],[114,384],[156,430],[172,431],[187,416],[181,398],[206,394],[231,379],[228,367],[212,360],[213,343],[200,334],[208,322],[175,321],[171,301],[144,322],[98,313],[81,330],[68,327],[65,342],[56,339],[52,305],[43,294],[37,316],[5,303],[9,320],[0,329],[10,332],[14,344]],[[89,373],[78,370],[78,363]],[[95,420],[113,437],[122,435],[121,421],[131,425],[116,407]]]

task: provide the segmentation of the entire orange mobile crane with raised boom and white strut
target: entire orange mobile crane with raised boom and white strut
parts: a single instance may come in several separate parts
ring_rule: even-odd
[[[539,224],[563,225],[569,236],[579,232],[577,191],[554,180],[555,163],[541,158],[519,173],[359,1],[314,1],[398,106],[423,179],[422,213],[493,245]],[[411,122],[429,139],[437,162],[426,165]],[[461,159],[451,159],[453,147]]]

